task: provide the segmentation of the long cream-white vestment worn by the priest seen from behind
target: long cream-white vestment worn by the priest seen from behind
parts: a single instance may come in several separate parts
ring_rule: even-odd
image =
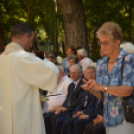
[[[39,88],[55,93],[57,67],[10,43],[0,55],[0,134],[45,134]]]

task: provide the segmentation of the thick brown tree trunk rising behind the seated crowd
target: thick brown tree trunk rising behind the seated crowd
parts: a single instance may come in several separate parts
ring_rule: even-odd
[[[82,0],[57,0],[57,3],[63,15],[66,44],[75,47],[82,46],[88,51],[87,28]]]

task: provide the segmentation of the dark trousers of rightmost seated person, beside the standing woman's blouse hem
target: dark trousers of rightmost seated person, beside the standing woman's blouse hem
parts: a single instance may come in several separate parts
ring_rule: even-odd
[[[106,134],[106,129],[103,122],[95,126],[93,126],[93,124],[94,122],[91,122],[85,126],[84,132],[86,134]]]

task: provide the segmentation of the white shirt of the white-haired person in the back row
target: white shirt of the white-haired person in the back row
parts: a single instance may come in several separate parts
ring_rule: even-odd
[[[93,61],[92,61],[90,58],[88,58],[88,57],[84,57],[84,58],[80,61],[80,65],[81,65],[82,68],[83,68],[83,73],[84,73],[84,75],[85,75],[85,70],[87,69],[87,67],[88,67],[91,63],[93,63]]]

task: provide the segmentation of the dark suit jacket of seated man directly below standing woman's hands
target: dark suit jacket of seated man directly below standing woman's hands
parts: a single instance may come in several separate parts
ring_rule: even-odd
[[[81,110],[83,110],[84,114],[93,114],[97,101],[98,99],[91,92],[84,90],[81,101],[77,105],[76,109],[72,112],[72,114],[76,114],[77,111]]]

